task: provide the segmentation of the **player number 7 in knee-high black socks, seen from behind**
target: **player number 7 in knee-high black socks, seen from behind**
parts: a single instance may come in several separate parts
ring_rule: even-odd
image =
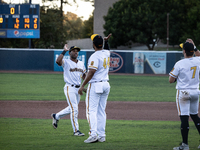
[[[184,44],[180,44],[183,49],[184,59],[178,61],[172,71],[169,73],[169,82],[176,84],[176,104],[178,115],[181,120],[182,143],[173,150],[189,150],[188,132],[189,132],[189,116],[192,118],[199,134],[200,134],[200,118],[198,116],[199,107],[199,72],[200,72],[200,56],[199,50],[194,47],[191,39],[186,40]],[[197,57],[193,57],[195,55]],[[200,145],[199,147],[200,148]]]

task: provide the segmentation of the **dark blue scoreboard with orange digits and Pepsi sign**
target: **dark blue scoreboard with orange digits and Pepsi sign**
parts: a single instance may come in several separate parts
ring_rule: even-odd
[[[39,4],[0,4],[0,38],[40,38]]]

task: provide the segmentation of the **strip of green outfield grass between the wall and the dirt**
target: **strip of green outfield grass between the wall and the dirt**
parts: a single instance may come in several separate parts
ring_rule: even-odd
[[[0,73],[0,79],[0,100],[65,100],[62,74]],[[175,101],[168,76],[110,75],[109,82],[108,101]]]

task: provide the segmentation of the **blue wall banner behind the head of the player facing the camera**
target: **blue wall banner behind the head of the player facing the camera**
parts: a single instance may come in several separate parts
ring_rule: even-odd
[[[56,64],[56,59],[58,58],[58,56],[62,53],[62,51],[54,51],[54,71],[63,71],[62,66],[58,66],[58,64]],[[70,59],[69,53],[67,52],[64,56],[65,59]],[[80,51],[78,54],[78,60],[84,62],[84,65],[86,67],[86,52],[84,51]]]

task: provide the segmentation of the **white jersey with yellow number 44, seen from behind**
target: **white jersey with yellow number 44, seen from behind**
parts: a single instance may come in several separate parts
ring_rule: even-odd
[[[93,53],[88,60],[88,68],[95,69],[94,76],[89,83],[98,81],[108,81],[108,72],[110,67],[110,51],[100,50]]]

